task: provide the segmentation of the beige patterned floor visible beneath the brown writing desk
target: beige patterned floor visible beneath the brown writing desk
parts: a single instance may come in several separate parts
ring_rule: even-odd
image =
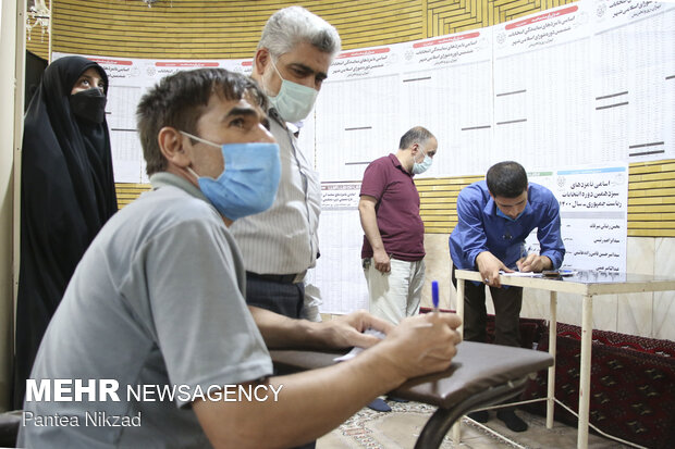
[[[407,449],[415,446],[415,440],[433,408],[417,402],[389,402],[393,411],[379,413],[364,409],[349,419],[340,428],[323,436],[317,442],[317,449]],[[528,424],[527,432],[516,434],[508,431],[492,411],[487,426],[502,434],[517,445],[512,445],[498,436],[493,436],[468,419],[462,425],[462,442],[454,445],[447,436],[441,448],[495,449],[495,448],[532,448],[532,449],[572,449],[576,448],[577,429],[562,423],[554,423],[552,429],[545,427],[545,419],[517,411]],[[589,436],[590,449],[628,448],[611,439],[597,435]]]

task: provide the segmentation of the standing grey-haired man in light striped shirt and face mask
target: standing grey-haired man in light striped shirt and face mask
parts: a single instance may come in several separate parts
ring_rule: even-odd
[[[321,186],[294,132],[311,112],[340,45],[338,30],[302,7],[282,9],[265,25],[251,77],[270,102],[281,180],[271,208],[232,226],[244,254],[247,302],[312,321],[320,321],[320,295],[306,288],[305,277],[319,254]]]

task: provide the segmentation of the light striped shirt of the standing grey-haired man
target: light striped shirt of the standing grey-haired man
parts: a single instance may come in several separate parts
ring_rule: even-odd
[[[294,274],[315,266],[319,248],[321,184],[318,173],[274,110],[270,130],[279,144],[281,180],[270,209],[236,220],[230,232],[244,255],[246,271]]]

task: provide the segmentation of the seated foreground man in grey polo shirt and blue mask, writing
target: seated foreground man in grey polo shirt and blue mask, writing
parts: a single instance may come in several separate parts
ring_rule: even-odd
[[[461,340],[450,313],[393,328],[366,312],[312,323],[247,307],[229,226],[277,194],[266,105],[254,80],[222,68],[179,72],[143,97],[152,190],[108,221],[75,270],[30,373],[20,447],[293,447],[408,377],[450,366]],[[267,347],[300,345],[369,350],[274,376]],[[49,400],[54,379],[73,379],[65,401]],[[233,400],[234,390],[249,392]]]

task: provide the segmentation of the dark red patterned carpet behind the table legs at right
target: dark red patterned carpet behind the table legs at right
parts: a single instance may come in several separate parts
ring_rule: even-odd
[[[539,350],[548,350],[548,328]],[[578,409],[581,328],[557,324],[555,398]],[[675,342],[605,330],[592,333],[590,422],[639,446],[671,449],[675,441]],[[545,396],[547,373],[540,372],[523,399]],[[528,407],[544,413],[543,402]],[[556,420],[575,425],[576,417],[556,407]]]

